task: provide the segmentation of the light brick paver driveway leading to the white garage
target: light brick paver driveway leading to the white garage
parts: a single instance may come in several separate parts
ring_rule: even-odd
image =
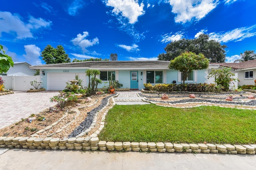
[[[0,96],[0,129],[32,113],[36,114],[56,105],[56,102],[50,102],[50,98],[58,93],[58,91],[14,92]]]

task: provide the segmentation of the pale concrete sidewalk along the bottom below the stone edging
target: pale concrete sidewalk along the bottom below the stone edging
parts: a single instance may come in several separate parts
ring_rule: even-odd
[[[10,149],[1,170],[252,170],[255,155]]]

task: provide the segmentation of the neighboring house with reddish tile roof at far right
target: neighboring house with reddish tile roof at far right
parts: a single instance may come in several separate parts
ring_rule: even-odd
[[[233,73],[238,73],[238,86],[254,85],[256,79],[256,60],[241,63],[211,63],[232,68]]]

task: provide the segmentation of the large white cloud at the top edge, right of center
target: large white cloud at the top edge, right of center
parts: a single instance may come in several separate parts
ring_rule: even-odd
[[[218,5],[219,0],[170,0],[176,23],[201,20]]]

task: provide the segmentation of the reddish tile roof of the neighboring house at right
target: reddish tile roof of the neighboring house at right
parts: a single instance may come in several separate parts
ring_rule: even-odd
[[[244,61],[241,63],[211,63],[211,64],[218,64],[220,66],[231,67],[233,69],[245,69],[245,68],[256,67],[256,60]]]

